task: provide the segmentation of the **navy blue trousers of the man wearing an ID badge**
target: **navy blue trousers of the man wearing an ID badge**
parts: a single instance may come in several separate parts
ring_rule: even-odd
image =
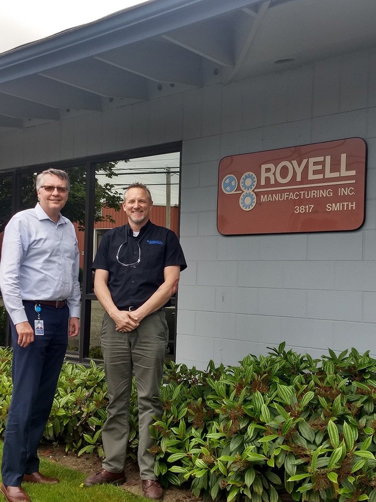
[[[31,326],[35,304],[25,302]],[[4,438],[2,478],[6,486],[20,486],[24,474],[39,470],[38,444],[50,416],[56,385],[68,344],[69,309],[41,305],[44,335],[35,336],[28,347],[13,339],[13,392]]]

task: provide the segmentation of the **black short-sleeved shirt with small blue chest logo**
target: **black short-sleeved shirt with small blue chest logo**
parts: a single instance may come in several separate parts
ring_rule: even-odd
[[[186,269],[175,233],[149,220],[137,237],[129,224],[108,230],[99,244],[92,270],[108,271],[112,300],[118,309],[127,310],[145,303],[164,283],[164,268],[173,265]]]

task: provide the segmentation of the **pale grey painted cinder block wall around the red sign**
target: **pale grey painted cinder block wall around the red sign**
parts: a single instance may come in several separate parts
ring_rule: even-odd
[[[341,138],[368,148],[366,219],[354,232],[222,236],[220,160]],[[321,356],[376,354],[376,48],[228,86],[0,134],[0,168],[183,141],[176,360],[236,364],[286,341]]]

